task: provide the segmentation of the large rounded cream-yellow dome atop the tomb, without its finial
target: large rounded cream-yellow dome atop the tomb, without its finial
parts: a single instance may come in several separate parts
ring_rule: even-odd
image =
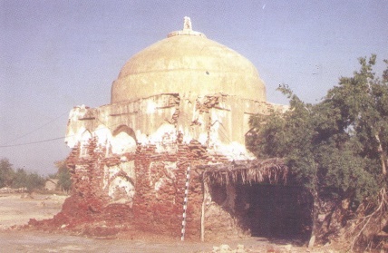
[[[265,84],[252,63],[189,27],[133,55],[112,84],[111,102],[161,93],[219,92],[266,101]]]

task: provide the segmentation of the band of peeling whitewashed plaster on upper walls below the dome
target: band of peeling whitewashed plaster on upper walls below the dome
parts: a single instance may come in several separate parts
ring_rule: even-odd
[[[217,107],[200,111],[198,103],[200,105],[208,102],[210,97],[215,96],[218,96]],[[177,101],[180,101],[179,110],[176,107],[178,104],[174,103]],[[65,141],[73,148],[87,139],[82,139],[84,131],[91,131],[98,146],[106,148],[106,156],[112,153],[133,153],[139,144],[153,144],[156,145],[157,152],[174,153],[178,148],[178,133],[181,133],[183,143],[197,140],[207,146],[209,152],[225,155],[230,160],[245,160],[253,157],[245,148],[249,115],[267,113],[273,108],[281,111],[285,106],[244,100],[226,94],[210,94],[206,97],[193,93],[160,94],[95,109],[79,106],[73,108],[69,114]],[[172,120],[173,115],[177,118]],[[120,125],[131,128],[134,136],[124,131],[112,136],[112,132]]]

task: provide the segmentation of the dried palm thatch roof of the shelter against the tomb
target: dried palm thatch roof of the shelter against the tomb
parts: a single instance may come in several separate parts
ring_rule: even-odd
[[[271,158],[263,161],[232,161],[230,163],[201,165],[204,170],[203,180],[206,183],[252,184],[267,182],[286,184],[288,168],[283,160]]]

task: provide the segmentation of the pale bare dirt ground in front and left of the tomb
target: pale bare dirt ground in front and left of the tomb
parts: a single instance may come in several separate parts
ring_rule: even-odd
[[[54,194],[34,194],[32,198],[25,194],[0,194],[0,252],[342,252],[333,246],[307,249],[297,240],[241,238],[200,243],[158,235],[103,239],[20,229],[29,219],[53,218],[64,199],[65,196]],[[229,249],[221,245],[228,245]]]

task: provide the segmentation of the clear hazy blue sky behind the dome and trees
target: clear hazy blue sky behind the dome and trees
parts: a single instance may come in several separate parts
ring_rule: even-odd
[[[121,66],[185,15],[256,65],[269,102],[286,103],[280,83],[317,102],[358,57],[377,54],[377,72],[388,59],[388,0],[0,0],[0,146],[63,137],[73,106],[109,103]],[[48,174],[69,151],[59,139],[0,158]]]

